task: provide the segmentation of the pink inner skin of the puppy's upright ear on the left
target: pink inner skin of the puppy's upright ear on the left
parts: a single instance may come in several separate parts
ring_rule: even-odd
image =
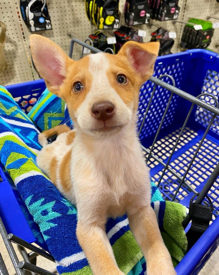
[[[60,86],[63,83],[65,75],[63,71],[64,60],[51,50],[40,52],[37,55],[37,69],[42,78],[47,80],[51,85]]]

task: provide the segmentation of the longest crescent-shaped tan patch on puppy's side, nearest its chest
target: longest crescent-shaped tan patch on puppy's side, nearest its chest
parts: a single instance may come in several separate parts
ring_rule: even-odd
[[[71,150],[63,157],[59,168],[59,179],[61,181],[62,189],[65,193],[71,190],[71,177],[70,177],[70,160]]]

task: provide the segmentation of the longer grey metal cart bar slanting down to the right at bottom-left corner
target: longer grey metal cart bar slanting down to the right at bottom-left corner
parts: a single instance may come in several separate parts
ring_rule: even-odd
[[[5,243],[5,247],[8,251],[8,254],[11,258],[11,262],[14,266],[15,272],[17,273],[17,275],[24,275],[23,270],[21,270],[18,267],[19,260],[17,258],[17,254],[15,253],[15,250],[13,248],[13,245],[12,245],[11,241],[7,239],[7,232],[5,230],[5,227],[3,225],[3,222],[1,220],[1,218],[0,218],[0,233],[1,233],[1,237],[3,239],[3,242]]]

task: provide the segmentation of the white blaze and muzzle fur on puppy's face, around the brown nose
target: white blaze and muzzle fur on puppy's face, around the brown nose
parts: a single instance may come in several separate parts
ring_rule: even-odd
[[[107,55],[104,53],[90,55],[88,67],[89,73],[93,76],[93,82],[85,100],[77,110],[79,126],[85,131],[92,131],[92,129],[104,126],[103,121],[97,121],[91,116],[93,104],[102,101],[110,101],[115,106],[115,115],[106,121],[106,126],[126,125],[132,118],[132,109],[126,106],[116,90],[110,85],[109,78],[116,78],[116,76],[110,71]]]

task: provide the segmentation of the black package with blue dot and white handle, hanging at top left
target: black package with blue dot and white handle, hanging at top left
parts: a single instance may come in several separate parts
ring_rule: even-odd
[[[21,15],[31,32],[51,30],[51,21],[45,0],[20,0]]]

